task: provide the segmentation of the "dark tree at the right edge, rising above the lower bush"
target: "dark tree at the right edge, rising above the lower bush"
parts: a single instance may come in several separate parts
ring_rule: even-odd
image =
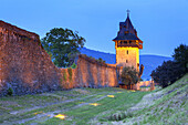
[[[185,72],[186,70],[188,72],[188,45],[180,44],[176,48],[173,58],[177,63],[180,63],[185,67]]]

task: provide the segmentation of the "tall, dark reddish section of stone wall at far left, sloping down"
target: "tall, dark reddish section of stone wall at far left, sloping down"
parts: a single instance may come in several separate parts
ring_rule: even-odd
[[[39,35],[0,21],[0,95],[60,88],[59,69],[41,46]]]

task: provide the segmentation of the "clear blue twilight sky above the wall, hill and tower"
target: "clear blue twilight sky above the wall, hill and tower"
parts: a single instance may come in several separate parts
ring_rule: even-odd
[[[188,0],[0,0],[0,20],[43,38],[53,28],[79,31],[92,50],[115,53],[112,41],[126,10],[144,41],[140,54],[170,56],[188,44]]]

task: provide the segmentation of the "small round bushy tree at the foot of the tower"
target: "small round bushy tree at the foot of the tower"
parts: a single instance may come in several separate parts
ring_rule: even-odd
[[[133,66],[132,67],[124,66],[122,74],[121,74],[121,80],[125,85],[130,86],[132,84],[135,84],[138,82],[139,80],[138,72]]]

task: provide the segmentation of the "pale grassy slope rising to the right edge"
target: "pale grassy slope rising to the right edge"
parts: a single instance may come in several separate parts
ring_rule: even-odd
[[[144,105],[142,105],[144,104]],[[173,85],[146,95],[133,116],[113,124],[188,124],[188,74]]]

